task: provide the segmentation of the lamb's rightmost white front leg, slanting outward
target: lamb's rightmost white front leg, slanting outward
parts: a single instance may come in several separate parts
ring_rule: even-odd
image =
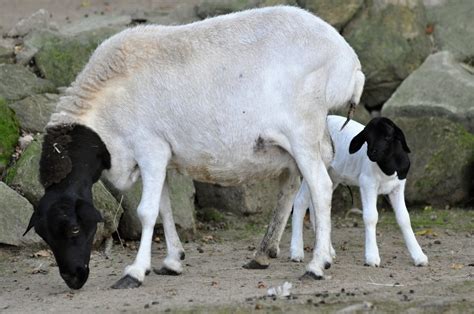
[[[416,266],[428,265],[428,257],[423,253],[418,241],[416,241],[415,234],[411,228],[410,215],[408,214],[405,205],[404,197],[405,185],[402,184],[397,190],[389,194],[390,203],[392,203],[395,211],[397,223],[402,231],[406,246],[410,252],[411,258]]]

